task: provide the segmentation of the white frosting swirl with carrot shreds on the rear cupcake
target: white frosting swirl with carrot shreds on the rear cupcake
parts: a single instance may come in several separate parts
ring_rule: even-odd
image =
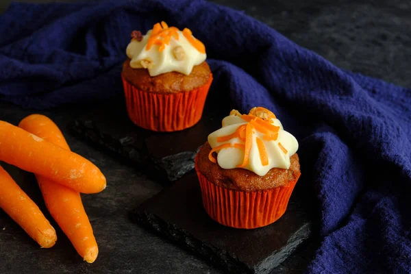
[[[148,69],[150,76],[176,71],[189,75],[193,66],[207,58],[206,47],[190,29],[180,31],[166,23],[157,23],[146,35],[132,32],[132,41],[126,49],[133,69]]]

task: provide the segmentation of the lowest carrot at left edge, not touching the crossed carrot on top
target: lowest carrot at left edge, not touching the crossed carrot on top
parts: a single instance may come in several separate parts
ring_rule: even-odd
[[[40,208],[0,166],[0,208],[32,237],[40,247],[53,247],[57,236]]]

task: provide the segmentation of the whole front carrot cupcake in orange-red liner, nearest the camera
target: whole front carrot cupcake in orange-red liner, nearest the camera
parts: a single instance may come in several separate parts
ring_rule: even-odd
[[[232,110],[195,158],[206,212],[236,228],[277,221],[301,174],[297,149],[297,140],[273,112]]]

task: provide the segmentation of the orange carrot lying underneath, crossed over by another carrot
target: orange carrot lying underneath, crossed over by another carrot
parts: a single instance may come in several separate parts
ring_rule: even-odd
[[[27,116],[18,126],[63,149],[70,150],[58,126],[47,116],[39,114]],[[36,178],[51,216],[60,225],[79,255],[86,262],[94,262],[99,254],[99,248],[80,193],[55,184],[41,175],[36,175]]]

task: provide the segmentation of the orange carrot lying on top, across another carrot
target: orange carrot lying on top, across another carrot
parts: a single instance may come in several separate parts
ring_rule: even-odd
[[[0,121],[0,160],[79,192],[105,188],[105,177],[92,162],[4,121]]]

